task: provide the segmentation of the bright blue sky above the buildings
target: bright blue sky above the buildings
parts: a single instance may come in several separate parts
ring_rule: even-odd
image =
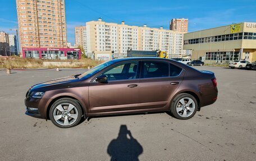
[[[135,1],[66,0],[68,42],[75,42],[74,27],[97,20],[168,29],[172,18],[189,19],[189,31],[208,29],[237,22],[256,22],[256,0],[215,1]],[[17,27],[15,0],[0,0],[0,31]]]

